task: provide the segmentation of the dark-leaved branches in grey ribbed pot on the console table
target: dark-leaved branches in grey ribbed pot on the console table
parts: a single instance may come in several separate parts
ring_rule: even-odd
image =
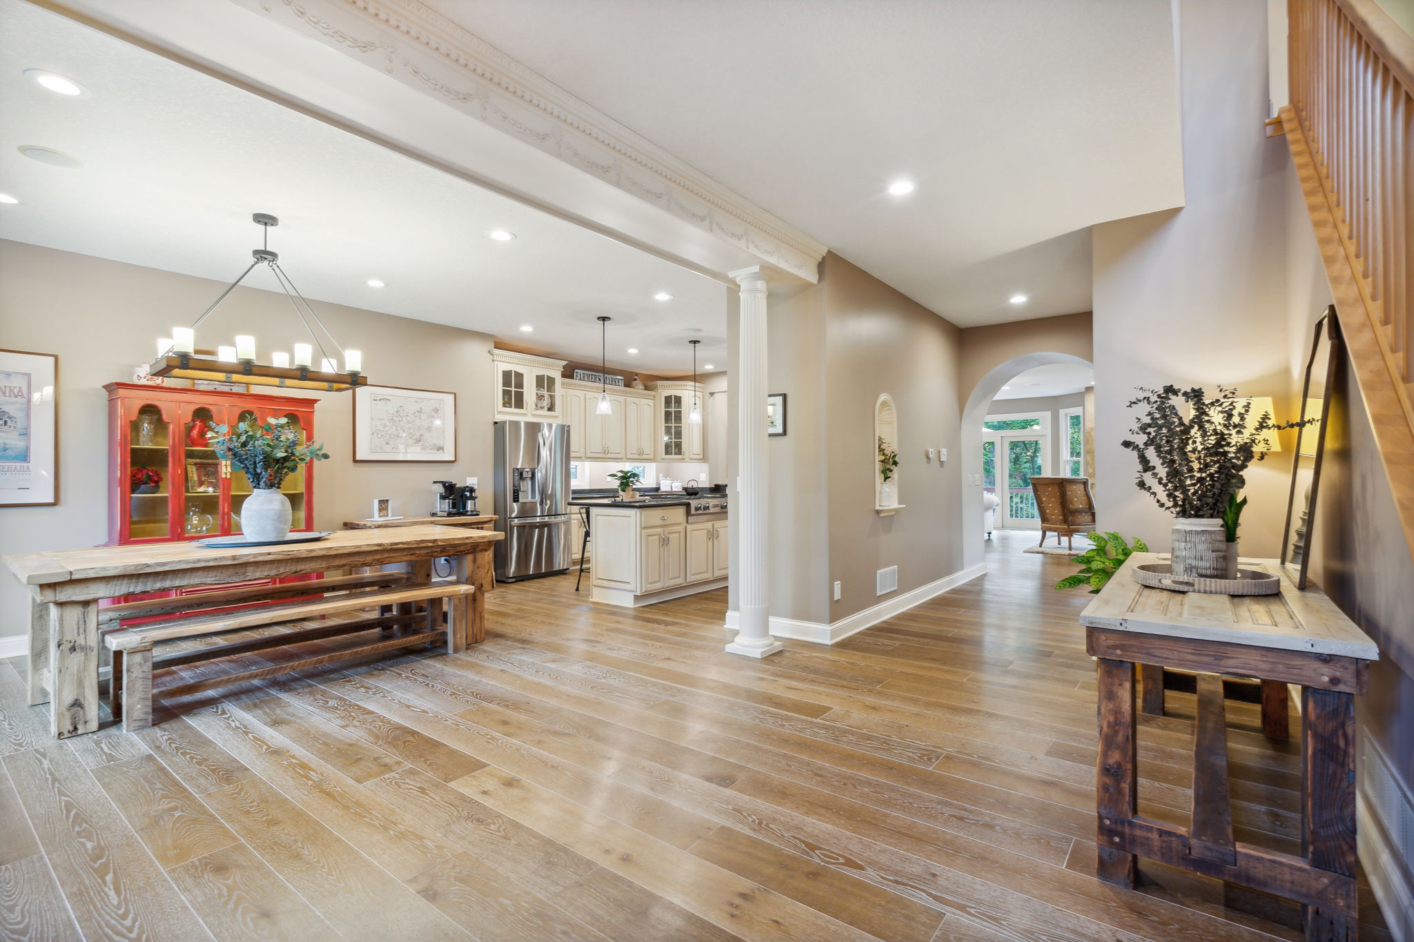
[[[1263,412],[1251,421],[1251,400],[1222,386],[1216,395],[1176,386],[1140,387],[1138,393],[1128,404],[1140,410],[1130,431],[1134,438],[1120,446],[1138,458],[1138,489],[1174,514],[1174,575],[1236,575],[1237,518],[1247,504],[1237,500],[1247,483],[1243,475],[1267,456],[1260,445],[1271,432],[1309,419],[1278,424]]]

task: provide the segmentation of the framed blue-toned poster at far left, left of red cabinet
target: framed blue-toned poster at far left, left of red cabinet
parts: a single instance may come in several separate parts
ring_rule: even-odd
[[[59,503],[59,357],[0,350],[0,507]]]

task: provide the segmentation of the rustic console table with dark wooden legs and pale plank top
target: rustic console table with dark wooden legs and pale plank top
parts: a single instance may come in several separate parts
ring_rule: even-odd
[[[1134,884],[1135,856],[1302,904],[1307,938],[1355,939],[1355,695],[1379,650],[1316,589],[1299,590],[1275,559],[1281,593],[1217,596],[1148,589],[1134,554],[1080,614],[1099,669],[1096,770],[1099,877]],[[1138,813],[1135,665],[1199,671],[1189,828]],[[1233,840],[1222,675],[1301,686],[1302,856]]]

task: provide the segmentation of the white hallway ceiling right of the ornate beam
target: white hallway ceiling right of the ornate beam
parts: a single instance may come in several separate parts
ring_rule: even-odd
[[[1169,0],[426,1],[962,326],[1182,203]]]

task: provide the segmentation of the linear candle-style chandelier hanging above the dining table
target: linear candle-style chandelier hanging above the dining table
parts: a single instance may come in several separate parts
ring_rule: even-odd
[[[211,306],[201,312],[201,316],[189,328],[173,328],[171,339],[163,338],[157,342],[158,356],[157,362],[153,363],[153,376],[171,376],[182,380],[216,380],[218,383],[250,383],[255,386],[283,386],[286,388],[297,390],[322,390],[327,393],[341,393],[352,390],[358,386],[368,386],[368,377],[363,376],[363,354],[359,350],[345,350],[329,333],[329,329],[324,326],[320,321],[320,315],[314,312],[310,302],[304,299],[300,290],[294,287],[290,281],[290,275],[284,273],[280,267],[280,256],[270,251],[270,227],[279,226],[280,220],[269,213],[255,213],[252,217],[257,226],[264,229],[264,240],[260,249],[250,253],[253,261],[250,267],[240,273],[240,277],[230,282],[221,295],[211,302]],[[216,350],[216,359],[197,356],[195,347],[195,332],[206,316],[216,309],[226,295],[230,294],[238,284],[245,281],[256,266],[269,266],[271,274],[274,274],[276,281],[280,282],[280,288],[284,291],[284,297],[290,299],[290,305],[294,308],[296,315],[298,315],[300,322],[308,332],[310,343],[296,343],[294,345],[294,363],[290,363],[288,353],[274,353],[274,364],[264,366],[263,363],[256,363],[256,340],[253,336],[240,335],[236,338],[236,345],[221,346]],[[301,306],[303,305],[303,306]],[[308,314],[308,316],[305,316]],[[311,321],[314,322],[311,325]],[[324,342],[314,332],[314,325],[318,325],[324,336],[328,338],[329,345],[339,352],[344,357],[344,371],[339,371],[338,363],[329,357],[328,352],[324,349]],[[314,366],[314,347],[320,349],[320,369],[312,369]]]

